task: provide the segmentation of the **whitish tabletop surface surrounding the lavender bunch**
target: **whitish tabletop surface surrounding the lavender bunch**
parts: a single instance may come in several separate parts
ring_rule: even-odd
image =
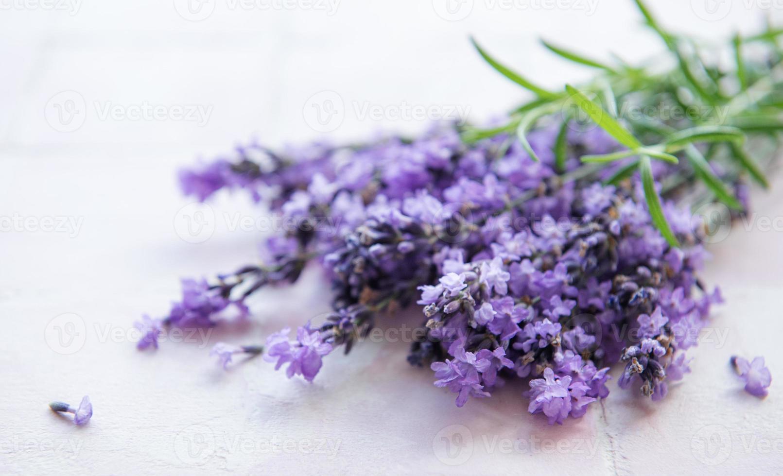
[[[230,232],[222,218],[258,214],[238,195],[211,204],[218,218],[210,240],[180,239],[173,217],[189,200],[176,187],[177,168],[254,136],[272,145],[324,136],[303,114],[321,91],[337,92],[346,105],[462,106],[478,120],[524,99],[477,58],[468,33],[552,87],[587,73],[543,52],[539,34],[604,59],[609,50],[633,58],[660,47],[640,31],[630,2],[616,0],[597,2],[591,15],[579,6],[586,0],[571,9],[467,0],[472,9],[460,21],[439,17],[437,0],[342,0],[334,12],[211,2],[204,8],[214,12],[199,22],[168,0],[83,0],[70,11],[0,2],[0,216],[79,224],[0,233],[0,473],[783,471],[780,226],[739,224],[710,248],[703,276],[720,284],[727,304],[690,352],[693,373],[664,402],[619,391],[615,379],[605,402],[563,426],[529,415],[518,384],[457,409],[453,394],[432,385],[431,371],[408,366],[408,344],[393,338],[359,345],[348,358],[331,355],[314,384],[287,380],[261,359],[219,370],[207,356],[216,341],[247,344],[327,310],[314,272],[291,289],[262,294],[244,326],[137,352],[133,321],[163,315],[180,277],[232,270],[254,259],[259,240],[259,233]],[[732,2],[720,21],[702,20],[681,0],[655,2],[655,11],[673,28],[717,38],[759,25],[757,3]],[[85,101],[73,132],[52,124],[50,99],[70,111],[73,93],[57,96],[66,91]],[[200,105],[211,114],[206,124],[100,114],[109,104],[144,102]],[[326,135],[355,139],[425,125],[363,119],[348,107]],[[779,218],[781,200],[778,176],[772,192],[754,195],[757,217]],[[78,337],[59,344],[56,330],[68,323]],[[728,366],[734,353],[767,358],[766,399],[741,390]],[[49,401],[77,403],[85,394],[95,407],[87,427],[47,409]],[[456,445],[449,451],[446,442]]]

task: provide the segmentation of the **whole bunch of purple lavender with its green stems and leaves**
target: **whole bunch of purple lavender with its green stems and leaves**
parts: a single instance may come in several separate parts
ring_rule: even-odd
[[[735,216],[748,207],[746,177],[766,185],[742,143],[753,135],[778,145],[768,134],[781,128],[778,111],[765,100],[783,52],[768,31],[746,39],[771,46],[768,58],[749,63],[735,40],[736,68],[720,70],[686,55],[683,38],[637,5],[677,70],[604,65],[547,44],[601,71],[588,85],[550,92],[477,44],[536,96],[499,126],[438,124],[416,139],[280,152],[253,144],[182,172],[189,195],[246,189],[257,201],[271,197],[272,213],[298,226],[270,236],[258,265],[213,283],[184,281],[168,316],[139,324],[139,347],[157,347],[161,326],[214,326],[229,308],[247,316],[247,297],[294,283],[312,262],[334,288],[334,310],[303,323],[293,340],[289,330],[268,338],[265,360],[286,366],[288,377],[313,380],[323,357],[349,352],[376,319],[416,304],[425,338],[408,360],[429,366],[457,406],[521,378],[529,411],[563,423],[609,395],[615,363],[619,388],[664,398],[690,372],[686,352],[722,301],[698,279],[705,223],[689,207],[720,200]],[[736,90],[724,90],[729,81],[719,80],[732,75]],[[617,117],[621,101],[726,104],[731,114],[727,124],[628,121]]]

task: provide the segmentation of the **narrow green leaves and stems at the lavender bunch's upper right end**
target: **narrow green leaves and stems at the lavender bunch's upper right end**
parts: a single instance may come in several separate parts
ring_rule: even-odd
[[[566,85],[561,92],[555,92],[500,63],[471,38],[475,49],[490,66],[532,92],[535,98],[512,111],[507,124],[490,129],[467,128],[464,139],[475,141],[516,133],[530,157],[539,160],[526,136],[538,121],[560,112],[561,126],[554,144],[554,157],[557,171],[565,173],[568,124],[575,119],[577,110],[583,112],[626,150],[586,155],[580,160],[586,164],[607,165],[636,157],[615,171],[606,182],[616,184],[638,172],[653,222],[669,244],[677,247],[677,237],[663,214],[661,193],[655,188],[651,160],[672,164],[686,160],[692,177],[702,182],[717,200],[735,210],[741,210],[742,204],[734,197],[731,187],[715,174],[711,160],[719,160],[720,155],[726,162],[724,166],[733,168],[737,174],[747,174],[767,187],[767,177],[745,150],[745,142],[763,139],[777,145],[778,133],[783,130],[783,81],[776,79],[783,73],[783,50],[778,45],[783,30],[768,25],[760,34],[746,38],[734,35],[731,39],[734,65],[726,70],[705,64],[695,41],[666,31],[642,0],[633,2],[647,26],[662,39],[677,67],[664,74],[655,74],[648,67],[633,67],[622,61],[602,63],[542,40],[543,45],[557,56],[597,70],[594,81],[579,87]],[[769,58],[755,63],[746,59],[744,47],[754,42],[767,45]],[[631,121],[618,117],[619,99],[640,107],[667,103],[684,111],[709,111],[709,114],[695,114],[677,121],[662,118]],[[722,114],[716,114],[717,111]],[[710,145],[709,153],[699,150],[698,146],[703,144]]]

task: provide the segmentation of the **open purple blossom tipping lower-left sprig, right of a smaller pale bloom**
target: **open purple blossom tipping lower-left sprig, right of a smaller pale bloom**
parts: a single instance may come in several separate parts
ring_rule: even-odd
[[[288,378],[301,375],[312,382],[321,370],[321,357],[332,352],[332,345],[323,341],[318,330],[309,326],[299,327],[297,340],[288,341],[290,329],[286,328],[270,335],[266,340],[267,352],[264,359],[275,363],[275,370],[288,363]]]

